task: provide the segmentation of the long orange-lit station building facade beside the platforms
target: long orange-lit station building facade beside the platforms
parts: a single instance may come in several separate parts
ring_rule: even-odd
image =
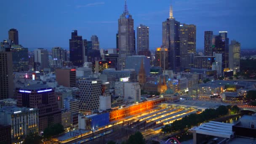
[[[109,120],[119,120],[130,115],[136,115],[139,112],[144,112],[149,109],[157,107],[157,104],[160,104],[164,101],[163,98],[154,99],[150,101],[144,101],[139,104],[134,104],[129,107],[124,107],[122,109],[113,110],[109,113]]]

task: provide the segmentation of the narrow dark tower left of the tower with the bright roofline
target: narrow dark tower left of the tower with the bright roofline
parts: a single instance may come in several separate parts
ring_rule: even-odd
[[[205,31],[205,47],[204,54],[205,56],[213,56],[213,31]]]

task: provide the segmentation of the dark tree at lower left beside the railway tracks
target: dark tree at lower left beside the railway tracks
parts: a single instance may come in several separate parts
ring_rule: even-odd
[[[60,123],[57,123],[57,124],[51,125],[48,128],[45,128],[43,131],[43,137],[46,139],[49,139],[52,136],[56,136],[60,133],[63,133],[64,131],[65,130],[63,125],[61,125]]]

